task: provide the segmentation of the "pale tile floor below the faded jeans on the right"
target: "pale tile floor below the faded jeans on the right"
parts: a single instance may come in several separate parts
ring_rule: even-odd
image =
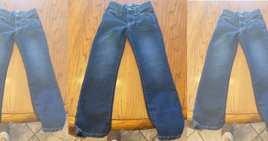
[[[253,124],[232,124],[233,137],[235,141],[266,141],[268,140],[268,132],[265,128],[265,123]],[[221,141],[221,130],[192,130],[187,128],[188,141]]]

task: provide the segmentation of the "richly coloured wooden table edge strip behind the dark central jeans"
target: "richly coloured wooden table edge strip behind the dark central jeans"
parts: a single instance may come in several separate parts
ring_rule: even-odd
[[[187,117],[187,108],[183,109],[184,120]],[[68,116],[68,125],[69,127],[74,127],[75,124],[75,116]],[[113,120],[111,121],[111,130],[144,130],[144,129],[152,129],[154,126],[150,118],[144,119],[132,119],[132,120]]]

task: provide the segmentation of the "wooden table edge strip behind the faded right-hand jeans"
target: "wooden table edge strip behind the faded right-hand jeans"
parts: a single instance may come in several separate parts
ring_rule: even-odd
[[[192,121],[193,111],[187,111],[187,120]],[[225,114],[225,123],[246,124],[263,122],[259,113],[252,114]]]

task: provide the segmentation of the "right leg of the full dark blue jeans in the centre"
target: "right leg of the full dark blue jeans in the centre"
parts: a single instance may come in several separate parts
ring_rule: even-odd
[[[183,132],[184,117],[160,27],[151,15],[140,15],[137,21],[142,22],[133,23],[127,37],[139,68],[148,116],[159,140],[177,139]]]

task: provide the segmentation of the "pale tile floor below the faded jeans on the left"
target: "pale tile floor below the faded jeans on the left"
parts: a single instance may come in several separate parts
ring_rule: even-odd
[[[41,122],[8,124],[11,141],[68,141],[68,114],[66,114],[64,128],[58,132],[43,132]]]

